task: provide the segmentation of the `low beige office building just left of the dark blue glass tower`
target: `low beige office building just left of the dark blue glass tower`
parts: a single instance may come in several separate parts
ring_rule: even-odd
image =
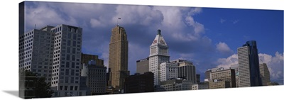
[[[229,82],[229,87],[236,87],[236,76],[234,69],[219,70],[210,73],[209,84],[224,84],[223,82]],[[214,82],[215,80],[222,80],[223,82]],[[213,85],[214,86],[214,85]],[[215,86],[214,86],[215,87]],[[221,88],[221,87],[220,87]]]

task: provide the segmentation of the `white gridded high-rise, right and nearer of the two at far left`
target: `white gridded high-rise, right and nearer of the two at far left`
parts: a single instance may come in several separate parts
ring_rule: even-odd
[[[55,33],[51,87],[55,96],[84,95],[80,90],[82,28],[59,25]]]

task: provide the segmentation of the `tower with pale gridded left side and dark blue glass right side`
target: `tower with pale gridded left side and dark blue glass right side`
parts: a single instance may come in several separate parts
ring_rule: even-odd
[[[247,41],[241,48],[238,48],[238,59],[239,87],[261,86],[258,50],[255,40]]]

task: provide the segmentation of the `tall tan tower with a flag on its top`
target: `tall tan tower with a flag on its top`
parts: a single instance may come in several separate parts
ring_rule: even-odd
[[[129,41],[126,30],[121,26],[111,29],[111,41],[109,43],[109,68],[111,86],[116,89],[124,88],[128,71]]]

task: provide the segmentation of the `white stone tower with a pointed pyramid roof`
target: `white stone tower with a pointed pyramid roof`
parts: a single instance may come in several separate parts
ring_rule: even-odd
[[[169,62],[168,45],[158,30],[153,43],[150,46],[149,71],[154,73],[154,85],[158,85],[160,77],[160,64]]]

